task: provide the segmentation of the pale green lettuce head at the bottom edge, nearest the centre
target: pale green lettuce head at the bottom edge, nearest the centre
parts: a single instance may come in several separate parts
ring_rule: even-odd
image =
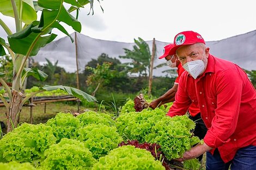
[[[135,146],[122,146],[111,150],[108,155],[99,159],[93,170],[112,169],[144,169],[144,170],[164,170],[160,161],[155,160],[153,155],[145,149],[135,148]]]

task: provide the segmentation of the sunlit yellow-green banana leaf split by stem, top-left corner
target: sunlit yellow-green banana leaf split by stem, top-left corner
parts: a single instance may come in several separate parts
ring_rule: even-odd
[[[18,14],[20,14],[21,3],[22,2],[22,22],[30,24],[36,20],[36,11],[34,9],[33,0],[15,0]],[[10,0],[0,1],[0,12],[3,15],[14,17],[13,6]]]

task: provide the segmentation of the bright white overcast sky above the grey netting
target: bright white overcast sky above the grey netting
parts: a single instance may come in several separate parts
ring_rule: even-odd
[[[134,42],[143,40],[173,42],[176,34],[193,30],[205,41],[217,41],[256,29],[254,0],[94,0],[94,15],[87,15],[89,5],[81,9],[78,20],[81,33],[96,39]],[[75,15],[75,14],[74,14]],[[15,28],[9,17],[1,19]],[[70,27],[65,27],[71,34]],[[65,34],[54,30],[57,39]],[[0,37],[6,37],[0,28]]]

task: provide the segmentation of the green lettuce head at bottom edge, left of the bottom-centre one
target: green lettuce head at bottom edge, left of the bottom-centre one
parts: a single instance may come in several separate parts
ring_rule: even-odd
[[[83,170],[91,169],[96,163],[92,153],[83,142],[63,138],[45,150],[45,160],[41,169],[45,170]]]

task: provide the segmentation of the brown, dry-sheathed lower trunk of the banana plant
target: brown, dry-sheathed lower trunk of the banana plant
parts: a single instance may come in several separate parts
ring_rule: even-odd
[[[7,133],[12,131],[19,124],[20,112],[22,109],[21,99],[23,94],[19,91],[12,90],[13,98],[10,101],[10,110],[7,112]]]

